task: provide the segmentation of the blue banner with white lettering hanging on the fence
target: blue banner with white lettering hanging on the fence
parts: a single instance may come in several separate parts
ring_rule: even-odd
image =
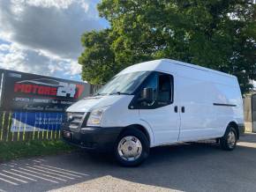
[[[11,118],[11,132],[59,130],[64,113],[14,112]]]

